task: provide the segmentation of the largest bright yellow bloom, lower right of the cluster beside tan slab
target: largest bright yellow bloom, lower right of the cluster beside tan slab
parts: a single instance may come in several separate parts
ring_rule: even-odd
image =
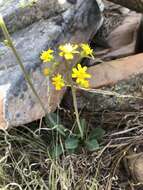
[[[82,67],[80,64],[77,65],[77,68],[72,69],[72,78],[76,78],[76,83],[84,88],[89,87],[88,78],[91,78],[91,75],[86,72],[87,67]]]

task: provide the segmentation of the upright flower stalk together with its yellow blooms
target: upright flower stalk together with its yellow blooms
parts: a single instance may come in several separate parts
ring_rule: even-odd
[[[66,79],[64,79],[64,77],[59,73],[53,76],[54,73],[52,74],[51,72],[50,76],[52,77],[52,84],[54,85],[56,90],[61,90],[65,86],[70,86],[71,91],[72,91],[73,106],[74,106],[74,111],[75,111],[75,116],[76,116],[76,122],[79,128],[80,137],[81,139],[83,139],[84,135],[83,135],[82,126],[80,123],[80,117],[79,117],[78,106],[77,106],[77,98],[76,98],[76,88],[74,87],[74,83],[78,84],[82,88],[89,87],[88,79],[91,78],[91,76],[87,72],[87,67],[86,66],[82,67],[79,62],[83,57],[93,58],[93,49],[91,49],[88,44],[77,45],[77,44],[70,44],[70,43],[67,43],[65,45],[60,45],[58,49],[60,51],[59,56],[63,58],[62,63],[64,63],[66,71],[67,71]],[[53,53],[54,52],[51,49],[48,49],[47,51],[43,51],[40,56],[43,63],[47,63],[47,64],[49,64],[49,62],[52,63],[54,59]],[[79,62],[77,65],[74,64],[73,66],[73,63],[71,62],[71,60],[74,59],[75,55],[79,56]],[[47,76],[46,74],[45,76]],[[75,80],[75,82],[73,81],[73,79]]]

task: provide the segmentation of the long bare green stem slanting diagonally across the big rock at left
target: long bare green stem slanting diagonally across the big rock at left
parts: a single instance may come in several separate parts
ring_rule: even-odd
[[[16,48],[15,48],[14,45],[13,45],[12,39],[11,39],[11,37],[10,37],[10,35],[9,35],[9,32],[8,32],[8,30],[7,30],[7,27],[6,27],[6,25],[5,25],[5,22],[4,22],[3,18],[2,18],[2,16],[0,16],[0,27],[1,27],[1,29],[2,29],[2,32],[3,32],[3,34],[4,34],[5,39],[8,41],[9,47],[12,49],[12,52],[13,52],[13,54],[15,55],[15,57],[16,57],[16,59],[17,59],[17,62],[18,62],[19,66],[20,66],[20,68],[21,68],[21,70],[22,70],[22,72],[23,72],[23,74],[24,74],[24,77],[25,77],[26,81],[28,82],[28,84],[29,84],[29,86],[30,86],[30,88],[31,88],[31,90],[32,90],[32,92],[33,92],[33,94],[34,94],[35,97],[37,98],[37,100],[38,100],[38,102],[40,103],[40,105],[41,105],[41,107],[42,107],[42,109],[43,109],[45,115],[47,116],[47,110],[46,110],[46,108],[45,108],[43,102],[41,101],[41,99],[40,99],[38,93],[36,92],[36,90],[35,90],[35,88],[34,88],[34,86],[33,86],[33,84],[32,84],[32,81],[31,81],[29,75],[27,74],[27,72],[26,72],[26,70],[25,70],[25,68],[24,68],[24,65],[23,65],[23,63],[22,63],[22,61],[21,61],[21,58],[20,58],[20,56],[19,56],[19,54],[18,54]],[[50,115],[48,115],[48,118],[49,118],[50,122],[55,125],[55,122],[53,121],[53,119],[51,118]]]

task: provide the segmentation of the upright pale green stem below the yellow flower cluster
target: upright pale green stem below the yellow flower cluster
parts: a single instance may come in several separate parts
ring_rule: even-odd
[[[74,105],[74,110],[75,110],[75,115],[76,115],[76,121],[77,121],[77,125],[80,131],[80,136],[83,139],[83,130],[80,124],[79,112],[78,112],[78,107],[77,107],[76,89],[74,86],[71,86],[71,90],[72,90],[73,105]]]

